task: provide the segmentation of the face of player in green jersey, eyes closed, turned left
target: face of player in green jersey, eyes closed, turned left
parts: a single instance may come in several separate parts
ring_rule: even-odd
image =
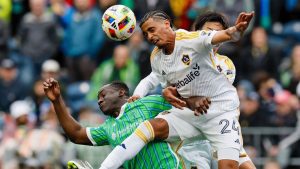
[[[98,105],[105,115],[114,115],[114,110],[118,109],[116,103],[120,100],[119,91],[109,85],[103,86],[98,93]]]

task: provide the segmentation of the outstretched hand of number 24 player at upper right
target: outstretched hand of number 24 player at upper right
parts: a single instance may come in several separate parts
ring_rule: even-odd
[[[239,30],[240,32],[244,32],[248,28],[249,23],[252,20],[253,16],[254,16],[254,11],[249,13],[241,12],[235,21],[236,29]]]

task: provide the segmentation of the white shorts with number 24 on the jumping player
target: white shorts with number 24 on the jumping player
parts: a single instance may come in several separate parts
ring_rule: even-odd
[[[239,110],[223,113],[211,119],[205,115],[195,116],[190,109],[173,108],[171,113],[161,113],[156,118],[163,118],[169,124],[169,135],[180,139],[192,138],[199,134],[210,141],[217,151],[218,160],[231,159],[239,161],[239,152],[243,147],[243,139],[238,122]],[[231,150],[230,150],[231,149]],[[230,154],[226,151],[230,150]],[[223,152],[225,151],[225,152]]]

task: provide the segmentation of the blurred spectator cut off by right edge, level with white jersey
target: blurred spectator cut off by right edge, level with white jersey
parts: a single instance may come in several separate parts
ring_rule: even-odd
[[[296,94],[296,86],[300,82],[300,45],[295,45],[290,57],[281,65],[280,80],[284,88]]]

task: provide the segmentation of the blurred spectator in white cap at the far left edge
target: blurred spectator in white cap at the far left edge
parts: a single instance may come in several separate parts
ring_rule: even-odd
[[[29,119],[32,109],[24,100],[15,101],[10,106],[10,114],[14,121],[5,124],[3,140],[0,145],[0,161],[2,169],[18,169],[21,159],[18,150],[21,142],[33,128]]]

